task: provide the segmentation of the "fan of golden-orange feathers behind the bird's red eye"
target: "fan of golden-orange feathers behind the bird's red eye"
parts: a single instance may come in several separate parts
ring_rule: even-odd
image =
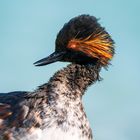
[[[68,48],[80,51],[89,57],[97,58],[103,66],[109,64],[114,54],[114,41],[103,29],[94,32],[84,39],[72,39],[68,43]]]

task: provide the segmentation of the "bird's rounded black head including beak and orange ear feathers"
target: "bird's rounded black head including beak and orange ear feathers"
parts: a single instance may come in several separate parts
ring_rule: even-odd
[[[36,66],[66,61],[106,67],[114,55],[114,41],[94,16],[71,19],[59,31],[55,43],[55,52],[35,62]]]

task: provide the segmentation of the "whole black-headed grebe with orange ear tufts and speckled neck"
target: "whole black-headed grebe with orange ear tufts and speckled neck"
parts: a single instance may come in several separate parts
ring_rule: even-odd
[[[35,65],[72,64],[34,92],[0,94],[0,139],[92,140],[82,95],[110,63],[113,44],[93,16],[81,15],[66,23],[57,35],[55,52]]]

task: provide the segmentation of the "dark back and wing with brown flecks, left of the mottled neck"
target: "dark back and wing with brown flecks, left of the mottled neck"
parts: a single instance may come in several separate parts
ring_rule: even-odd
[[[37,125],[40,118],[34,105],[38,106],[41,102],[42,97],[27,92],[0,93],[0,129],[4,124],[18,127],[28,120],[27,127]]]

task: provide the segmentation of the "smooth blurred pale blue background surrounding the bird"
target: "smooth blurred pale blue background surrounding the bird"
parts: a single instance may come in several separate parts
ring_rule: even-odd
[[[140,140],[139,0],[0,0],[0,92],[34,90],[66,63],[34,67],[70,18],[100,19],[116,42],[109,71],[84,96],[95,140]]]

